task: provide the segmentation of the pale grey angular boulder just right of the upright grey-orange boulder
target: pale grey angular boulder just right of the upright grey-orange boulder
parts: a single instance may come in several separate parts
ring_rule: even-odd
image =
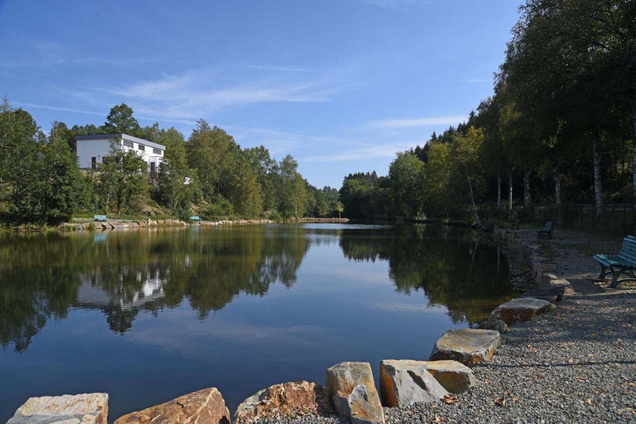
[[[422,361],[380,361],[380,397],[383,406],[411,406],[437,402],[448,394]]]

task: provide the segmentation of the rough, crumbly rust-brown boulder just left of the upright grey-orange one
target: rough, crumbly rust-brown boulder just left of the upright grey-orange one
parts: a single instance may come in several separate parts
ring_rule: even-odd
[[[318,383],[296,381],[260,390],[239,405],[235,424],[251,423],[261,418],[276,419],[288,415],[327,414],[331,412],[327,396]]]

